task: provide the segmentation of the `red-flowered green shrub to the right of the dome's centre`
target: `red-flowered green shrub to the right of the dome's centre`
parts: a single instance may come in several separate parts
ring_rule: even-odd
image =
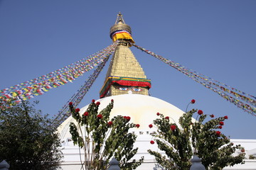
[[[197,121],[192,116],[197,112]],[[235,149],[242,149],[240,145],[233,146],[230,139],[219,131],[223,128],[224,120],[228,116],[203,121],[207,115],[203,111],[191,110],[179,118],[179,125],[171,123],[169,117],[158,114],[160,118],[154,120],[158,129],[153,135],[159,149],[165,152],[166,156],[159,152],[148,150],[154,155],[156,161],[166,169],[190,169],[191,158],[196,154],[201,158],[206,169],[223,169],[225,166],[233,166],[243,163],[245,154],[234,157]],[[210,115],[211,118],[214,115]],[[153,142],[154,143],[154,142]]]

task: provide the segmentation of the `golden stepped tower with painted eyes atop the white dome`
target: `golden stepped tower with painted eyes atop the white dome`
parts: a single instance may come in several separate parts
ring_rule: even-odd
[[[113,42],[119,41],[119,45],[110,62],[100,98],[120,94],[149,95],[151,81],[146,79],[141,65],[129,49],[130,43],[134,43],[132,29],[124,23],[121,13],[110,28],[110,38]]]

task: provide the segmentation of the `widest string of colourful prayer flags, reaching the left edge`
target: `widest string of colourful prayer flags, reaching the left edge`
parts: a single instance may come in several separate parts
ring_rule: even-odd
[[[66,67],[36,79],[31,79],[30,81],[25,81],[21,84],[3,89],[0,91],[0,100],[19,103],[21,100],[27,100],[42,95],[50,89],[72,82],[76,78],[82,76],[85,72],[88,72],[90,69],[93,69],[98,64],[102,63],[107,56],[114,52],[117,45],[118,42],[114,42],[112,45],[100,50],[100,52],[90,55],[78,62],[69,64]]]

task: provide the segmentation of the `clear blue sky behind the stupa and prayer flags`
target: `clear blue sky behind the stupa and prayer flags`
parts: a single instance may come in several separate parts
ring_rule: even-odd
[[[137,43],[189,69],[255,91],[256,1],[0,0],[0,89],[40,77],[112,43],[109,31],[122,12]],[[221,132],[255,139],[256,117],[242,111],[164,62],[131,47],[151,79],[151,96],[185,110],[192,98],[206,114],[228,115]],[[108,66],[108,63],[107,63]],[[99,98],[107,67],[80,107]],[[92,72],[36,99],[55,115]]]

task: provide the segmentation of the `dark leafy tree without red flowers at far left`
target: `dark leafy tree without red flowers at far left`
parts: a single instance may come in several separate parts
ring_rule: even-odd
[[[48,115],[28,101],[13,106],[2,102],[0,111],[0,161],[5,159],[10,170],[58,167],[61,145]]]

